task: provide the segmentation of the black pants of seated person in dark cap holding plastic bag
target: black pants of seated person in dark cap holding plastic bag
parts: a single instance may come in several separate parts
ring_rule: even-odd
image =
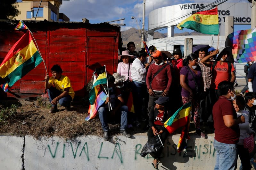
[[[156,129],[157,129],[158,132],[160,132],[160,130],[162,129],[162,126],[156,125]],[[161,135],[159,135],[160,138],[161,138],[161,140],[162,140],[162,143],[163,143],[163,144],[164,144],[165,139],[168,137],[168,134],[169,134],[169,132],[168,132],[166,129],[164,129],[163,133],[162,133]],[[148,129],[147,136],[148,136],[148,140],[149,140],[150,138],[153,138],[153,137],[154,137],[154,133],[153,133],[152,128],[149,128],[149,129]],[[150,153],[150,155],[151,155],[154,159],[159,160],[160,155],[161,155],[161,153],[162,153],[162,150],[163,150],[163,147],[161,147],[161,149],[159,149],[157,152]]]

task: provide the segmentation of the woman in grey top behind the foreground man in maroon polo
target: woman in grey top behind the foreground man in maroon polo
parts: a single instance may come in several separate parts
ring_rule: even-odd
[[[244,97],[240,94],[234,97],[235,99],[233,98],[233,106],[235,107],[237,116],[239,117],[243,115],[245,118],[245,122],[242,124],[241,123],[239,124],[240,137],[239,137],[239,142],[237,143],[237,152],[241,160],[241,166],[243,166],[242,169],[250,170],[252,168],[252,166],[250,165],[251,157],[249,155],[248,149],[244,148],[244,138],[248,137],[248,134],[250,135],[252,134],[253,136],[255,136],[255,133],[251,128],[249,128],[249,112],[244,110],[244,106],[245,106]]]

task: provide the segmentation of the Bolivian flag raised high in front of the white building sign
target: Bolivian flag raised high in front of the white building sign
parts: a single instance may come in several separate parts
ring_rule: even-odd
[[[208,11],[196,12],[177,25],[177,28],[191,29],[204,34],[219,34],[217,7]]]

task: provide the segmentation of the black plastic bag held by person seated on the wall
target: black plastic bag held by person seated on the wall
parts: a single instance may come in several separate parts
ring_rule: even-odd
[[[161,139],[159,136],[155,136],[147,141],[147,143],[143,146],[140,156],[145,157],[148,153],[157,152],[159,149],[163,147]]]

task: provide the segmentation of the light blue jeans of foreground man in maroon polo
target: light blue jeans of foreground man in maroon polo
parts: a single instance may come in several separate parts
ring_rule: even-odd
[[[224,144],[214,139],[213,146],[217,153],[214,170],[234,170],[237,160],[236,144]]]

